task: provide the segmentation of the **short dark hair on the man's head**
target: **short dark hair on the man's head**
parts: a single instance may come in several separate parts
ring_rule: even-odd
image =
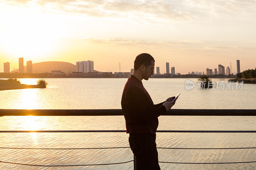
[[[150,54],[140,54],[134,60],[134,70],[137,70],[141,65],[149,66],[152,61],[155,62],[154,58]]]

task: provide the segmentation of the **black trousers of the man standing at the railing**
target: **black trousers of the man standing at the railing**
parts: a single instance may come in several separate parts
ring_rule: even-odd
[[[159,170],[156,139],[140,135],[129,136],[129,144],[135,155],[136,170]]]

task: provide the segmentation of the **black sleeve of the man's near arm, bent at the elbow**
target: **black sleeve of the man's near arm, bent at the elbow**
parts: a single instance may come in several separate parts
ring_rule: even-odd
[[[153,110],[148,110],[144,95],[144,92],[138,87],[131,87],[126,94],[126,100],[129,103],[135,118],[140,123],[152,122],[158,116],[166,112],[163,105]]]

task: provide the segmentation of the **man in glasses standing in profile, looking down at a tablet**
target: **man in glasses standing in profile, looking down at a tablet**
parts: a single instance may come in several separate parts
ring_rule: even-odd
[[[143,87],[142,79],[148,80],[155,67],[154,58],[143,53],[134,61],[134,72],[128,78],[122,95],[126,133],[129,133],[129,144],[135,155],[135,168],[160,169],[156,150],[156,129],[158,116],[170,110],[175,104],[175,97],[155,104]]]

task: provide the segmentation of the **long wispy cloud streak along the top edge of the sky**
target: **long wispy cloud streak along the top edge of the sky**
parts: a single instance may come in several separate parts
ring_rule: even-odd
[[[93,17],[158,18],[188,20],[196,18],[187,11],[177,11],[171,3],[164,1],[108,1],[108,0],[12,0],[3,1],[11,5],[39,5],[45,10],[86,14]]]

